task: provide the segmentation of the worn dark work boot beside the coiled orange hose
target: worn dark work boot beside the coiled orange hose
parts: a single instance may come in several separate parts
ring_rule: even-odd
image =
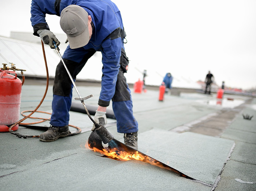
[[[59,137],[67,137],[69,135],[69,126],[56,127],[50,126],[47,131],[39,135],[39,140],[43,142],[52,142]]]

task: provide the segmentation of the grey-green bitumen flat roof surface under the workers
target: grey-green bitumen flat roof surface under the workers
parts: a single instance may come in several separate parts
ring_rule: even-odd
[[[86,147],[92,127],[89,117],[70,112],[69,123],[81,128],[83,133],[55,142],[0,133],[0,190],[256,190],[255,98],[229,95],[236,101],[225,104],[224,95],[223,105],[220,105],[215,94],[181,93],[175,96],[169,93],[160,102],[157,90],[134,93],[130,88],[134,116],[139,123],[138,150],[207,185],[141,161],[100,157],[101,154]],[[78,86],[78,89],[82,97],[94,95],[85,104],[97,105],[100,87]],[[33,110],[44,90],[45,85],[24,84],[20,112]],[[75,91],[73,97],[77,97]],[[52,86],[38,111],[51,112],[51,100]],[[243,113],[254,117],[243,119]],[[221,115],[230,117],[216,117]],[[33,116],[50,117],[42,113]],[[24,122],[35,121],[39,120],[26,119]],[[215,121],[216,125],[209,125],[209,121]],[[203,128],[208,129],[222,126],[221,132],[211,134],[208,131],[206,134],[200,130],[203,123]],[[49,126],[49,121],[36,125]],[[115,119],[108,119],[106,128],[115,139],[123,142],[123,134],[117,133]],[[193,132],[194,129],[198,132]],[[75,128],[70,130],[76,131]],[[17,132],[39,135],[43,131],[20,126]]]

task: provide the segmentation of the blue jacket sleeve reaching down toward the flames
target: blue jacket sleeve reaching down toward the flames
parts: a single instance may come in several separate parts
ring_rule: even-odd
[[[120,68],[122,40],[120,37],[114,40],[109,38],[102,43],[102,48],[103,76],[98,105],[107,107],[115,94],[115,85]]]

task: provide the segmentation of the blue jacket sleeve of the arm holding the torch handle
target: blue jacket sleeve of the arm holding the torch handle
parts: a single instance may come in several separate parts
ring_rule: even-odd
[[[37,31],[40,29],[47,29],[50,30],[48,24],[45,21],[45,14],[46,12],[43,12],[42,9],[47,9],[47,1],[42,1],[42,5],[38,5],[37,0],[32,0],[31,2],[31,24],[33,26],[34,33],[33,35],[38,36]],[[45,7],[45,8],[44,8]],[[50,8],[50,7],[48,7]]]

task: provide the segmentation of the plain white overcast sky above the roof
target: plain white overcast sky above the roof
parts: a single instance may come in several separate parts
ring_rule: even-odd
[[[154,84],[167,72],[177,79],[204,80],[208,70],[221,85],[256,87],[256,0],[113,0],[127,33],[129,72]],[[157,2],[157,3],[156,3]],[[1,36],[31,32],[31,0],[1,1]],[[58,16],[46,16],[63,33]],[[131,74],[130,74],[131,75]],[[156,82],[160,84],[161,82]]]

